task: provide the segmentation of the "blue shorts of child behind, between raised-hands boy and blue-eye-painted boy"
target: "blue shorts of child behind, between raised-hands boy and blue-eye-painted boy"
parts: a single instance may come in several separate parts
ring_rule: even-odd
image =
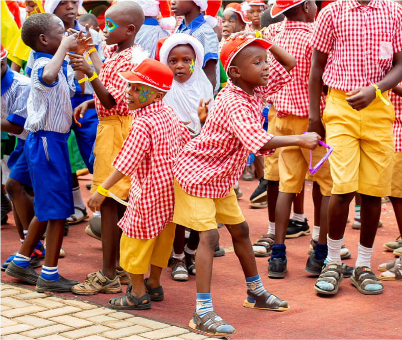
[[[83,95],[82,97],[72,98],[71,104],[74,109],[81,103],[91,99],[93,99],[92,95]],[[71,129],[74,130],[74,133],[76,134],[78,149],[80,150],[81,157],[84,160],[89,173],[93,174],[93,163],[89,161],[89,158],[91,156],[93,143],[95,142],[95,138],[97,136],[99,123],[97,110],[87,110],[84,114],[84,117],[79,119],[79,122],[81,123],[81,127],[73,123]]]

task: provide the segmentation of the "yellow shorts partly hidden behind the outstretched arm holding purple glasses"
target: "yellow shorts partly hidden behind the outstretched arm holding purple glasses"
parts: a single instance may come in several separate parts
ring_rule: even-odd
[[[290,114],[276,118],[275,135],[301,135],[307,131],[308,117],[298,117]],[[317,164],[327,152],[326,148],[318,147],[312,152],[312,166]],[[279,191],[299,193],[303,188],[306,173],[309,171],[310,151],[300,147],[279,149]],[[331,196],[332,178],[329,163],[325,162],[314,174],[315,181],[320,186],[323,196]]]

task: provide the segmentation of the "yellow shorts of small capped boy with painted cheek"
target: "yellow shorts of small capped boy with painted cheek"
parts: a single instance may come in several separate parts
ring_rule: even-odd
[[[120,265],[131,274],[145,274],[150,264],[160,268],[168,266],[173,241],[175,223],[168,223],[160,234],[151,239],[132,238],[125,234],[120,239]]]

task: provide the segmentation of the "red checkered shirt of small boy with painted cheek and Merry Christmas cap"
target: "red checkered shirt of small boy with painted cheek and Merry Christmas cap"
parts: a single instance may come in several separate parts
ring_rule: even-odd
[[[131,177],[129,205],[119,222],[126,236],[154,238],[172,222],[173,164],[190,134],[163,101],[140,109],[113,166]]]

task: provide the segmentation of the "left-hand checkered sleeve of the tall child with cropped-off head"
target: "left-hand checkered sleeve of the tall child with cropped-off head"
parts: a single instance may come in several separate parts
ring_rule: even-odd
[[[318,14],[314,31],[310,38],[313,48],[322,53],[329,53],[332,48],[334,25],[332,12],[330,12],[331,8],[331,6],[327,6]]]

